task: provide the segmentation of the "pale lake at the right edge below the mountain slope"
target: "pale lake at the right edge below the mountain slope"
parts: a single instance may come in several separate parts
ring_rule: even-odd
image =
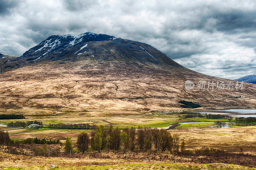
[[[222,114],[232,117],[256,117],[256,109],[228,109],[228,110],[210,110],[200,111],[201,114]]]

